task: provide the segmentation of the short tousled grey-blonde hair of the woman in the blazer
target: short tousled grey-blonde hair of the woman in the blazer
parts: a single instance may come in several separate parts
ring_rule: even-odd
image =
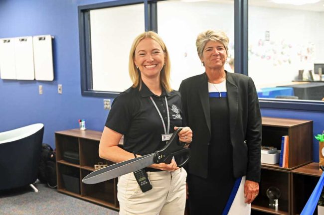
[[[208,41],[217,41],[223,44],[226,54],[228,55],[228,37],[224,31],[206,30],[198,34],[196,39],[196,47],[199,58],[202,58],[203,50]]]

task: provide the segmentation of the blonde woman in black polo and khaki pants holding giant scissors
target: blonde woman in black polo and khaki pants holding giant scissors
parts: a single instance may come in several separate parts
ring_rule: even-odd
[[[99,156],[122,162],[162,149],[165,137],[182,126],[179,93],[169,84],[170,60],[160,36],[144,32],[133,42],[129,58],[133,86],[113,102],[99,145]],[[124,135],[124,149],[118,147]],[[190,143],[192,131],[184,127],[179,140]],[[164,138],[163,138],[164,137]],[[142,192],[134,174],[118,181],[121,215],[183,215],[186,171],[170,164],[153,164],[146,168],[152,190]]]

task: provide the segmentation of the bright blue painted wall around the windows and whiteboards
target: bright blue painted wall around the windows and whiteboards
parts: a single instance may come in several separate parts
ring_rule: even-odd
[[[100,0],[0,0],[0,38],[50,34],[53,40],[53,82],[0,79],[0,132],[31,123],[45,124],[43,142],[54,147],[54,132],[78,127],[103,129],[108,111],[103,98],[81,96],[78,5]],[[27,14],[27,15],[26,15]],[[62,84],[63,94],[57,93]],[[38,95],[38,85],[43,95]],[[324,112],[262,109],[263,116],[314,120],[314,134],[324,129]],[[318,142],[314,139],[314,160]]]

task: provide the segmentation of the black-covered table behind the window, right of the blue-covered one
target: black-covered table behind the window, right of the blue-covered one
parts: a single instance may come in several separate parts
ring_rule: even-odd
[[[293,88],[295,96],[300,100],[322,100],[324,98],[324,83],[312,82],[278,87]]]

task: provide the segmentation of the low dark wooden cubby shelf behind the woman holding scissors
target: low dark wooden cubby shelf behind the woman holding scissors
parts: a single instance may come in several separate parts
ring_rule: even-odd
[[[82,183],[82,179],[95,170],[94,165],[98,162],[112,164],[99,158],[101,134],[99,131],[79,129],[55,132],[57,190],[118,210],[117,178],[93,185]],[[78,155],[79,162],[67,161],[64,156],[66,152]]]

